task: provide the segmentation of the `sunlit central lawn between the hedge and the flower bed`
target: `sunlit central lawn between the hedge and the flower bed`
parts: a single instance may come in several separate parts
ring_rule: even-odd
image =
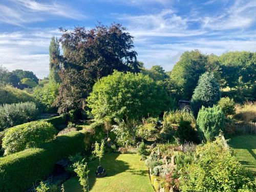
[[[140,161],[137,154],[105,154],[102,166],[106,169],[107,176],[95,178],[98,160],[89,163],[89,186],[92,192],[154,192],[148,169],[144,161]],[[65,192],[82,191],[77,177],[64,183]]]

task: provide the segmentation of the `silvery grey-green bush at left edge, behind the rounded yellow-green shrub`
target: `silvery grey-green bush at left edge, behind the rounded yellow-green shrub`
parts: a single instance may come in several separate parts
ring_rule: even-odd
[[[0,106],[0,129],[35,120],[38,116],[39,111],[33,102],[4,104]]]

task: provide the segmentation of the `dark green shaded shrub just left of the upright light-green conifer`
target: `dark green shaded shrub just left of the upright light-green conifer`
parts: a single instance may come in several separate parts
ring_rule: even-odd
[[[198,142],[197,132],[191,127],[189,121],[180,121],[175,137],[179,138],[181,143],[189,141]]]

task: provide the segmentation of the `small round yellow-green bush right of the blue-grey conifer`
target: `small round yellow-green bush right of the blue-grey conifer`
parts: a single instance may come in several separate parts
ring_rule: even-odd
[[[235,103],[229,97],[223,97],[219,100],[218,106],[221,108],[225,116],[236,114]]]

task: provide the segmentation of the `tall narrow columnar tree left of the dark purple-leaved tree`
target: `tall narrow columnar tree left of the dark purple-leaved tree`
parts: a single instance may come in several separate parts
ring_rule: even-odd
[[[49,46],[49,55],[50,55],[50,74],[49,74],[49,80],[50,82],[58,83],[60,82],[59,77],[59,55],[60,55],[60,49],[59,49],[59,43],[57,37],[52,37],[52,40],[50,42]]]

